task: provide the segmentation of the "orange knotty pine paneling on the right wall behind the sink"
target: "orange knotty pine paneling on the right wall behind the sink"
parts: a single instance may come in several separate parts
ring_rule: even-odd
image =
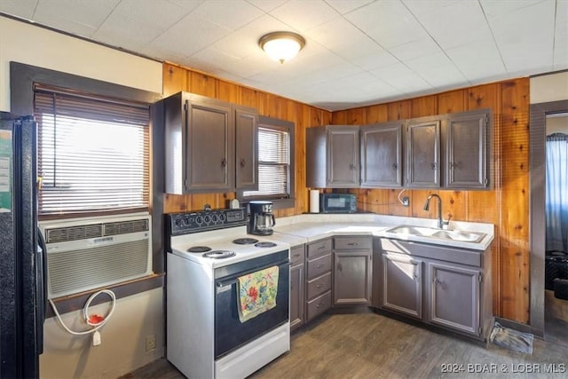
[[[490,83],[432,96],[349,109],[332,114],[334,124],[367,124],[480,108],[493,113],[491,191],[361,189],[359,208],[376,213],[435,218],[436,206],[422,209],[430,193],[442,198],[444,218],[495,225],[493,313],[529,321],[529,79]]]

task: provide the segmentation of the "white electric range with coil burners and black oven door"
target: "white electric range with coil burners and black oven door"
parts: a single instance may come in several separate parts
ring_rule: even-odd
[[[289,351],[289,245],[246,222],[244,209],[168,216],[167,358],[187,377],[246,377]],[[241,321],[238,279],[274,266],[276,306]]]

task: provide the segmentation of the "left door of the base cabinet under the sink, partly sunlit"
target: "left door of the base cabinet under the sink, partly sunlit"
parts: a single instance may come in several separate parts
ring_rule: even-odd
[[[422,320],[422,260],[383,253],[384,309]]]

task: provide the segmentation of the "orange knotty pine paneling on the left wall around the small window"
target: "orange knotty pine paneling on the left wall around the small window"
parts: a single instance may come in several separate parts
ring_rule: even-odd
[[[247,107],[255,107],[258,114],[279,118],[296,124],[296,206],[277,209],[277,217],[300,214],[308,210],[308,189],[305,187],[305,128],[331,122],[331,112],[281,98],[268,92],[258,91],[218,79],[186,67],[165,63],[163,65],[163,96],[187,91],[213,99],[229,101]],[[166,168],[166,170],[168,170]],[[203,209],[209,204],[213,209],[225,208],[225,201],[235,193],[200,193],[177,195],[166,193],[164,212],[177,213]]]

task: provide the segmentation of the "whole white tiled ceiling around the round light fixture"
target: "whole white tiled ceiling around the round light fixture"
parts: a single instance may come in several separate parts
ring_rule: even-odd
[[[568,0],[0,0],[0,12],[328,110],[568,69]],[[280,30],[306,40],[285,64],[258,46]]]

